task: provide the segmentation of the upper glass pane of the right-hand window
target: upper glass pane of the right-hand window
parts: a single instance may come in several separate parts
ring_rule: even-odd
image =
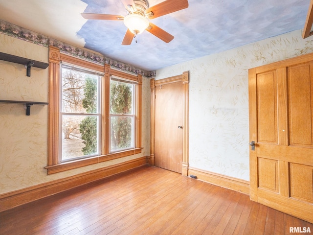
[[[133,88],[133,84],[110,81],[111,114],[133,114]]]

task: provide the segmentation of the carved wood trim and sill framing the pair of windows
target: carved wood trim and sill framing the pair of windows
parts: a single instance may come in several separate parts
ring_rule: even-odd
[[[102,125],[102,155],[90,157],[86,159],[73,160],[68,162],[59,163],[58,146],[59,146],[59,110],[60,110],[60,62],[67,62],[80,66],[83,68],[91,69],[94,71],[104,72],[104,82],[102,82],[101,93],[102,107],[101,125]],[[122,71],[112,70],[110,65],[98,65],[80,58],[72,57],[67,54],[60,53],[58,47],[49,47],[49,106],[48,106],[48,159],[47,159],[47,174],[66,171],[90,164],[98,164],[105,161],[110,161],[117,158],[131,156],[141,153],[141,106],[142,106],[142,75],[137,76],[128,74]],[[109,153],[109,117],[110,117],[110,77],[111,75],[126,78],[138,82],[135,86],[136,89],[136,102],[135,102],[135,115],[136,115],[136,130],[135,130],[135,148],[120,152]]]

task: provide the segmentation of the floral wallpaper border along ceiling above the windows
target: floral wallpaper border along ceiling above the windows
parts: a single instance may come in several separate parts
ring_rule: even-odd
[[[105,56],[97,55],[90,51],[84,50],[80,47],[71,46],[67,43],[60,42],[58,40],[46,37],[44,35],[38,34],[26,28],[22,28],[18,25],[11,24],[5,21],[0,20],[0,33],[15,37],[27,42],[31,42],[43,47],[48,47],[49,45],[54,47],[59,47],[60,50],[64,53],[80,57],[89,61],[92,61],[97,64],[109,64],[112,68],[118,69],[121,71],[130,72],[133,74],[141,74],[147,78],[152,78],[156,76],[156,71],[144,71],[134,66],[124,64],[107,58]]]

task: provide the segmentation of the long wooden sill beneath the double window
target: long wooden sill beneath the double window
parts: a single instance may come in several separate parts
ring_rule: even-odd
[[[111,153],[107,155],[101,155],[101,156],[96,156],[96,157],[91,157],[91,158],[86,158],[86,159],[79,159],[75,161],[60,163],[56,165],[48,165],[48,166],[45,166],[45,169],[47,169],[47,174],[50,175],[50,174],[54,174],[54,173],[58,173],[58,172],[62,172],[62,171],[70,170],[70,169],[75,169],[75,168],[86,166],[86,165],[97,164],[97,163],[102,163],[102,162],[110,161],[110,160],[117,159],[117,158],[131,156],[134,154],[141,153],[141,149],[142,148],[135,148],[135,149]]]

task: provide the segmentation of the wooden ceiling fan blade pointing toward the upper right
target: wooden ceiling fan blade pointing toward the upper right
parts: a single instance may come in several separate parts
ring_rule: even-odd
[[[146,14],[149,16],[149,12],[153,15],[149,16],[150,19],[164,16],[166,14],[179,11],[188,7],[188,0],[165,0],[159,4],[156,4],[146,10]]]

